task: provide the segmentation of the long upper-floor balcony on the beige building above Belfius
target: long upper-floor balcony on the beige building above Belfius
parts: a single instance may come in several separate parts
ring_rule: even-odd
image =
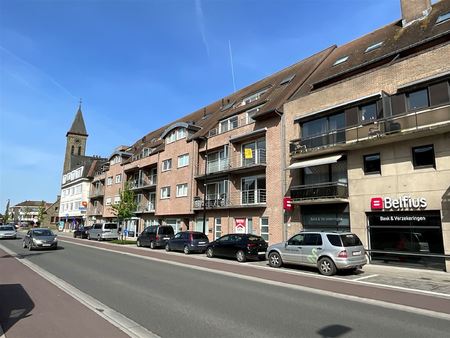
[[[289,152],[293,158],[319,152],[358,149],[375,144],[417,137],[417,132],[432,134],[437,128],[450,129],[450,107],[427,109],[379,119],[371,123],[329,131],[293,140]]]

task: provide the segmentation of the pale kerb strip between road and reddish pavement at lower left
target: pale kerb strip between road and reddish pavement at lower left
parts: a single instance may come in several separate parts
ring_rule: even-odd
[[[77,289],[76,287],[70,285],[66,281],[64,281],[64,280],[56,277],[55,275],[51,274],[50,272],[42,269],[38,265],[30,262],[28,259],[26,259],[26,258],[19,259],[17,257],[17,256],[19,256],[19,254],[15,253],[12,250],[9,250],[8,248],[4,247],[2,244],[0,244],[0,248],[2,250],[4,250],[7,254],[14,257],[20,263],[24,264],[25,266],[27,266],[28,268],[30,268],[31,270],[36,272],[41,277],[45,278],[53,285],[55,285],[59,289],[63,290],[68,295],[72,296],[75,300],[79,301],[81,304],[83,304],[84,306],[86,306],[89,309],[91,309],[92,311],[94,311],[100,317],[106,319],[108,322],[113,324],[115,327],[117,327],[119,330],[123,331],[128,336],[133,337],[133,338],[141,338],[141,337],[160,338],[158,335],[147,330],[145,327],[139,325],[135,321],[129,319],[128,317],[125,317],[123,314],[106,306],[102,302],[100,302],[97,299],[91,297],[90,295],[84,293],[83,291]],[[1,327],[0,327],[0,333],[2,333]],[[0,338],[5,338],[5,337],[0,336]]]

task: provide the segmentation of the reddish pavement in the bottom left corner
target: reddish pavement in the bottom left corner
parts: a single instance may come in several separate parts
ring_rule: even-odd
[[[0,262],[0,326],[6,338],[128,337],[1,249]]]

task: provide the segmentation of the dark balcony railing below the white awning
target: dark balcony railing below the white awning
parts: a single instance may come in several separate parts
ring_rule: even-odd
[[[348,185],[345,182],[307,184],[291,188],[291,198],[294,201],[347,197]]]

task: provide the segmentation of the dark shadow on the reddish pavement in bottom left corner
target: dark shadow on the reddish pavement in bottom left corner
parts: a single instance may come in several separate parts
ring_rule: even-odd
[[[34,303],[21,284],[0,285],[0,324],[6,334],[19,320],[31,316]]]

